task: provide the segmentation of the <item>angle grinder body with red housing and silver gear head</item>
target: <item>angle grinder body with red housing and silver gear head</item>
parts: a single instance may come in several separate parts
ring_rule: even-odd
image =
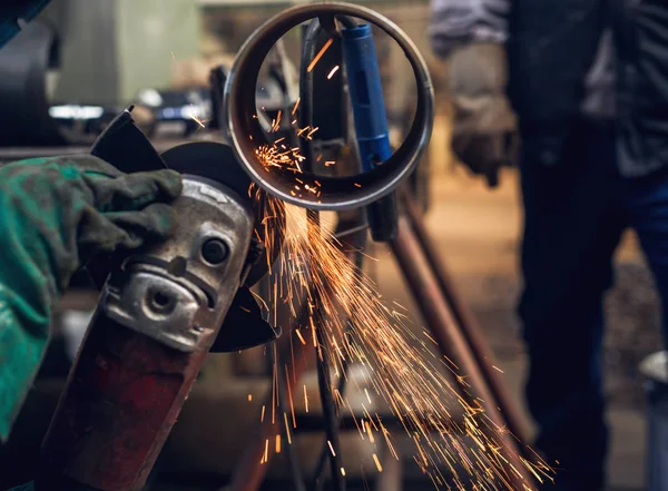
[[[130,256],[102,294],[45,439],[47,482],[144,488],[244,282],[253,210],[195,177],[174,206],[174,239]],[[217,266],[200,254],[212,237],[229,248]]]

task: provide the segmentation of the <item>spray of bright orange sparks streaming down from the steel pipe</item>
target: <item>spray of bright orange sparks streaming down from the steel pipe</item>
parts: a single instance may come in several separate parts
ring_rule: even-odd
[[[311,131],[312,128],[302,128],[301,137],[307,138]],[[310,178],[302,173],[304,157],[298,148],[263,145],[256,148],[256,155],[267,171],[293,171],[299,192],[314,188],[320,193],[321,183],[317,179],[308,181]],[[282,204],[269,198],[266,215],[278,216],[279,208]],[[355,267],[333,236],[313,226],[312,218],[303,209],[286,206],[285,214],[294,226],[288,227],[278,258],[279,267],[274,268],[281,273],[273,275],[273,302],[274,308],[277,303],[285,302],[295,317],[303,303],[310,307],[308,318],[295,328],[302,344],[307,344],[302,328],[308,328],[314,346],[330,355],[335,373],[345,373],[344,362],[360,367],[369,390],[373,390],[390,407],[413,440],[413,456],[434,483],[444,482],[440,468],[445,468],[452,471],[455,480],[471,481],[472,489],[511,491],[509,477],[520,471],[517,465],[511,465],[510,460],[511,455],[517,456],[517,450],[500,439],[508,432],[507,429],[498,428],[480,403],[461,395],[461,391],[469,386],[465,375],[459,373],[459,367],[451,360],[435,357],[428,350],[424,337],[434,344],[435,340],[426,332],[423,337],[420,331],[404,324],[407,317],[385,304],[377,294],[376,285]],[[265,227],[263,238],[267,251],[273,251],[277,237],[271,229]],[[396,305],[405,311],[402,305]],[[348,320],[352,320],[350,328]],[[322,333],[321,343],[316,330],[320,330],[318,335]],[[458,387],[458,382],[463,387]],[[336,393],[335,396],[340,407],[350,406],[342,394]],[[371,400],[367,391],[366,399]],[[308,411],[305,385],[304,404]],[[462,411],[453,411],[452,405],[463,410],[462,420],[453,419],[452,414]],[[355,418],[352,407],[351,414]],[[284,423],[289,443],[286,412]],[[371,440],[374,431],[382,432],[392,455],[399,458],[390,432],[380,419],[376,424],[365,409],[363,422],[357,423],[355,418],[355,424],[362,438],[366,433]],[[375,454],[374,461],[382,471]],[[550,479],[552,470],[538,456],[538,463],[515,461],[531,474]],[[462,475],[458,474],[462,472]],[[531,485],[527,483],[527,490],[532,490]]]

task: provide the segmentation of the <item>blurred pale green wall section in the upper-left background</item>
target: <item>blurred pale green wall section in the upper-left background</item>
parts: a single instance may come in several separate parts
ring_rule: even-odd
[[[58,102],[127,104],[199,53],[197,0],[53,0],[41,17],[60,32]]]

